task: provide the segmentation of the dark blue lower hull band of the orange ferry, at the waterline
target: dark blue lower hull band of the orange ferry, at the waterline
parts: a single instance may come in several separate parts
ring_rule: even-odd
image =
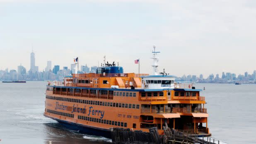
[[[49,117],[47,115],[44,115],[44,116],[46,116],[48,118],[51,118],[53,120],[57,120],[61,125],[67,127],[70,130],[74,130],[74,131],[79,130],[80,133],[111,138],[111,132],[109,130],[106,130],[106,129],[101,129],[101,128],[97,128],[97,127],[90,127],[90,126],[87,126],[87,125],[81,125],[81,124],[77,124],[77,123],[73,123],[73,122],[68,122],[68,121],[65,121],[65,120],[59,120],[59,119],[56,119],[56,118]]]

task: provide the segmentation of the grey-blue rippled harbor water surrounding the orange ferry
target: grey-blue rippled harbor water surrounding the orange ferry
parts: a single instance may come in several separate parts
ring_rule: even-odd
[[[104,144],[110,139],[80,134],[43,116],[47,82],[0,82],[0,144]],[[195,84],[203,89],[211,139],[256,142],[256,84]]]

